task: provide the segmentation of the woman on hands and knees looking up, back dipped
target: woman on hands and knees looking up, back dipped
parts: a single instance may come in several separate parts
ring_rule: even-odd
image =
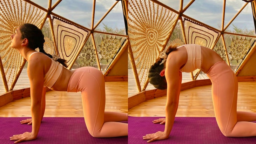
[[[11,35],[11,39],[11,47],[18,50],[28,62],[32,132],[14,135],[10,140],[16,140],[14,143],[18,143],[37,137],[45,111],[45,87],[56,91],[81,91],[85,123],[93,137],[128,135],[128,124],[120,123],[127,121],[128,115],[120,112],[105,112],[105,81],[100,70],[93,67],[75,70],[64,68],[67,67],[65,60],[56,55],[53,57],[46,54],[43,50],[44,36],[35,25],[29,23],[21,25]],[[37,52],[36,48],[39,48],[40,52]],[[25,123],[31,124],[30,120]]]

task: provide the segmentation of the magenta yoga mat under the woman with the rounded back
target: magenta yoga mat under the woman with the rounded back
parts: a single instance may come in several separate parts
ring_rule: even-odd
[[[164,125],[152,121],[164,117],[131,117],[128,122],[128,143],[146,144],[142,136],[164,131]],[[214,117],[176,117],[170,136],[152,144],[256,144],[256,137],[225,137]]]

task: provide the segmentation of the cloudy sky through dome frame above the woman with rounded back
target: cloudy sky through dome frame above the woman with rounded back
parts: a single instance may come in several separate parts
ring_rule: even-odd
[[[180,9],[180,1],[177,0],[160,0],[163,4],[168,5],[176,10]],[[188,4],[189,1],[184,1],[183,7]],[[225,25],[233,19],[238,11],[246,3],[242,0],[226,0],[225,3]],[[196,19],[209,26],[220,28],[222,24],[223,13],[223,0],[196,0],[193,4],[184,12],[185,15]],[[247,22],[245,22],[247,20]],[[243,11],[237,16],[232,23],[238,28],[254,28],[254,22],[252,19],[251,4],[243,9]],[[224,25],[224,26],[225,26]]]

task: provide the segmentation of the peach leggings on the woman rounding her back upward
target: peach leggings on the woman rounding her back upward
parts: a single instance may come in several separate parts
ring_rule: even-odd
[[[215,63],[207,72],[217,124],[226,137],[256,136],[256,113],[236,111],[238,82],[225,61]]]

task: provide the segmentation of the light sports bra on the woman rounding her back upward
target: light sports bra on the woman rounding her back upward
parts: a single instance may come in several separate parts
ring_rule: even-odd
[[[187,49],[188,60],[180,71],[190,73],[196,69],[201,69],[201,46],[197,44],[185,44],[183,46]]]

